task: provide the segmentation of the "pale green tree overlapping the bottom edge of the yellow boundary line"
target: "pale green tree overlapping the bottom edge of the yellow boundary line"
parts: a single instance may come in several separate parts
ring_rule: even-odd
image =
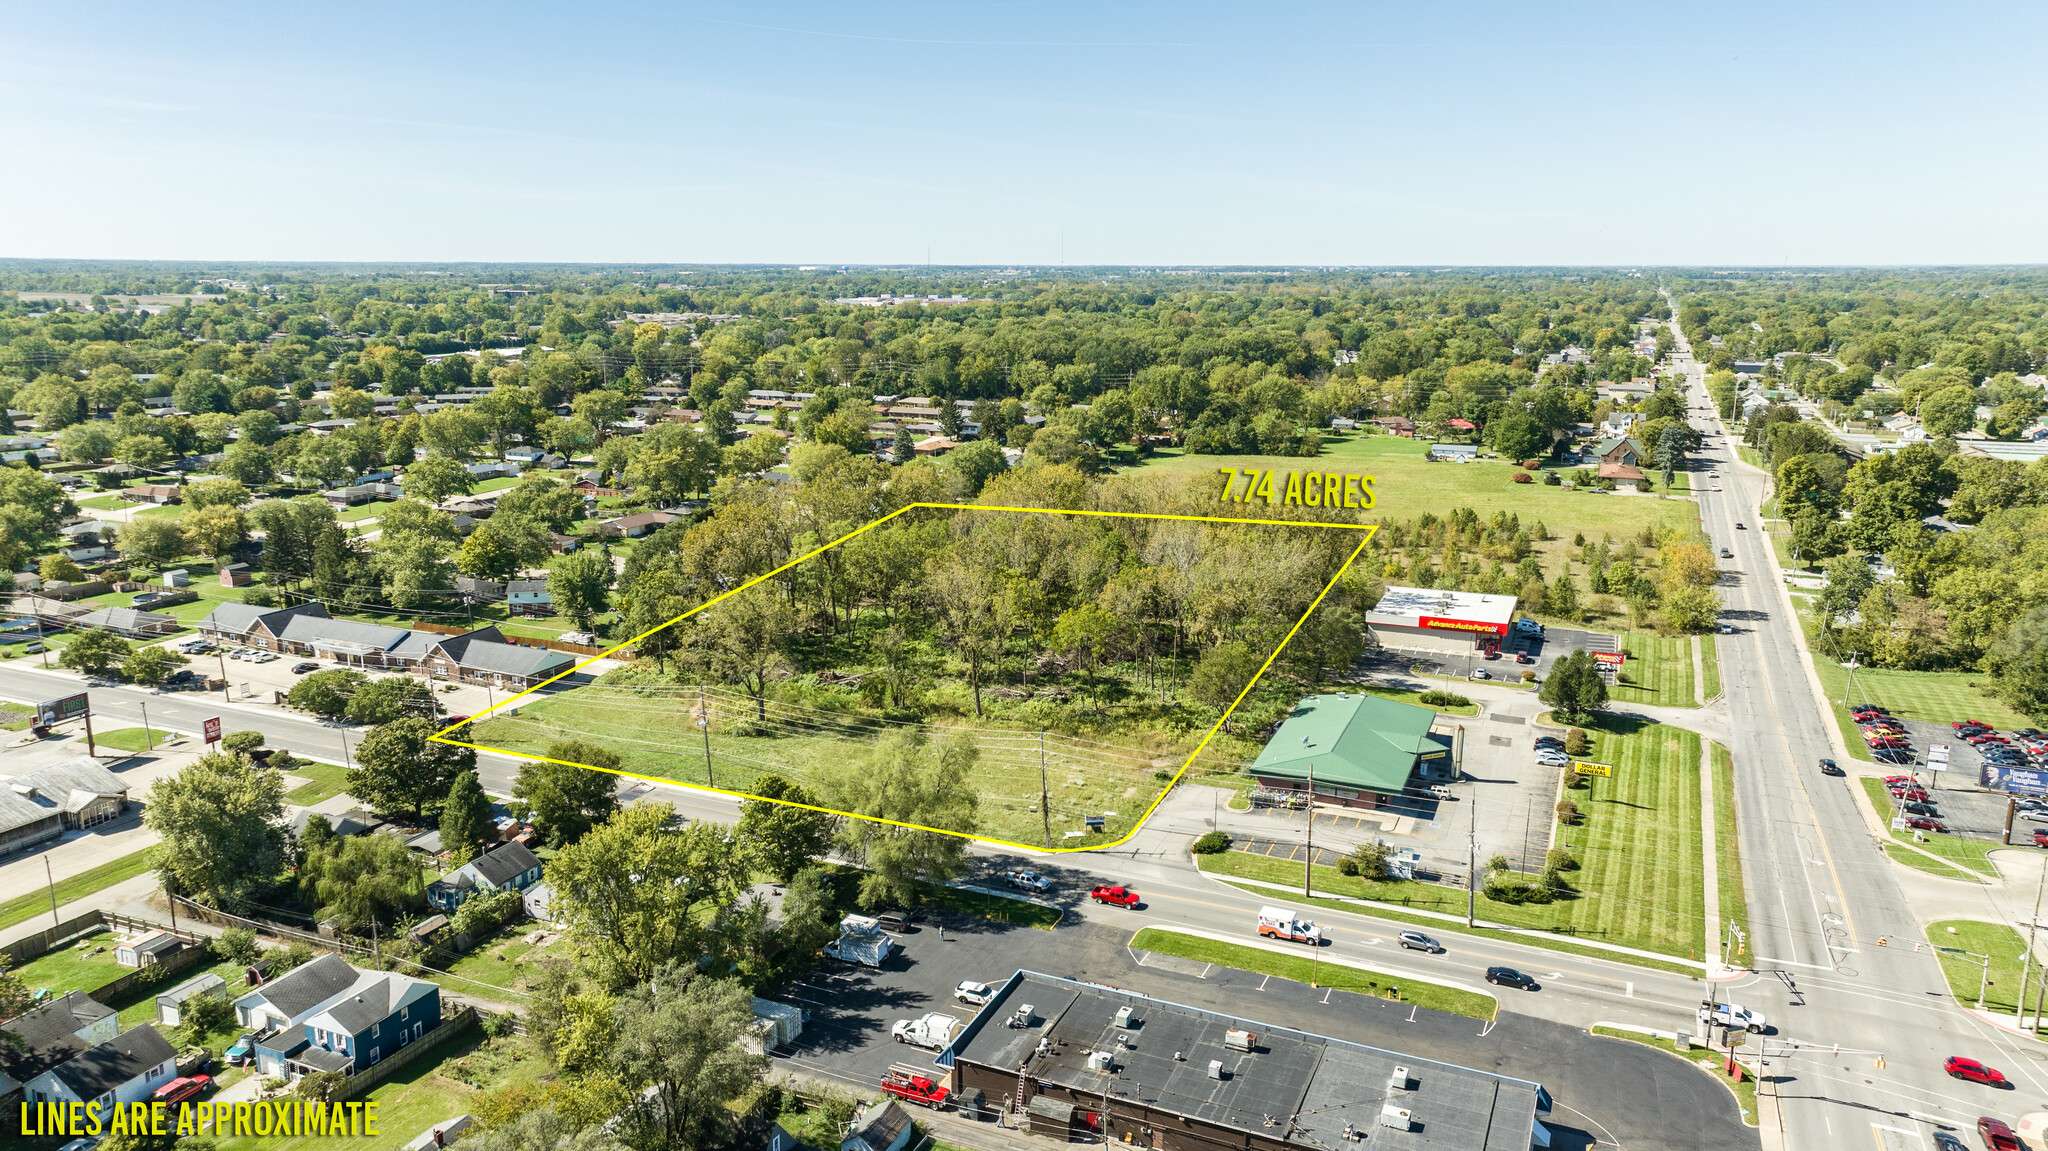
[[[889,731],[838,780],[831,807],[866,817],[844,821],[838,836],[866,868],[862,907],[913,903],[920,881],[944,885],[967,870],[967,836],[979,825],[967,772],[979,758],[973,735],[934,748],[918,729]]]

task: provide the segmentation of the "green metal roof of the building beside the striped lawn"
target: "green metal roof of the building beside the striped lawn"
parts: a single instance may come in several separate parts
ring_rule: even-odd
[[[1294,705],[1280,731],[1251,762],[1251,774],[1309,778],[1315,782],[1370,791],[1401,791],[1415,756],[1436,752],[1430,737],[1436,711],[1378,696],[1309,696]]]

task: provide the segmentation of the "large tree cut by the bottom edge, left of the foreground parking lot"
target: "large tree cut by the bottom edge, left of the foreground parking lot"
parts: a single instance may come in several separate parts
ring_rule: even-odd
[[[621,1112],[633,1147],[727,1147],[737,1141],[731,1102],[752,1098],[768,1055],[739,1040],[754,1026],[754,997],[737,979],[668,973],[618,1004],[612,1075],[635,1092]]]

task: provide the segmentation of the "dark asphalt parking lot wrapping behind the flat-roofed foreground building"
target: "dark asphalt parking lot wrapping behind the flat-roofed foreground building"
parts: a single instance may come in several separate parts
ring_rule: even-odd
[[[1757,1147],[1726,1090],[1677,1059],[1645,1059],[1634,1045],[1509,1010],[1481,1028],[1468,1018],[1409,1004],[1221,967],[1204,971],[1204,965],[1128,950],[1139,926],[1145,926],[1141,915],[1126,922],[1069,918],[1044,932],[934,915],[899,936],[903,950],[883,969],[829,963],[776,995],[807,1010],[811,1020],[774,1061],[782,1069],[872,1090],[889,1065],[926,1065],[934,1057],[893,1042],[889,1026],[895,1020],[946,1012],[965,1024],[975,1008],[952,997],[963,979],[1001,983],[1028,969],[1540,1081],[1559,1102],[1552,1147],[1589,1147],[1587,1131],[1604,1133],[1604,1145],[1620,1141],[1624,1147]]]

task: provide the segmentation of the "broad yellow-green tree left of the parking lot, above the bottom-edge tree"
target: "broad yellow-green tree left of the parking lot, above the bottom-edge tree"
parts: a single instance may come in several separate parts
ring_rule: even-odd
[[[676,829],[672,817],[664,803],[627,807],[561,848],[547,868],[551,909],[584,940],[608,987],[719,954],[752,883],[727,827],[698,821]]]

